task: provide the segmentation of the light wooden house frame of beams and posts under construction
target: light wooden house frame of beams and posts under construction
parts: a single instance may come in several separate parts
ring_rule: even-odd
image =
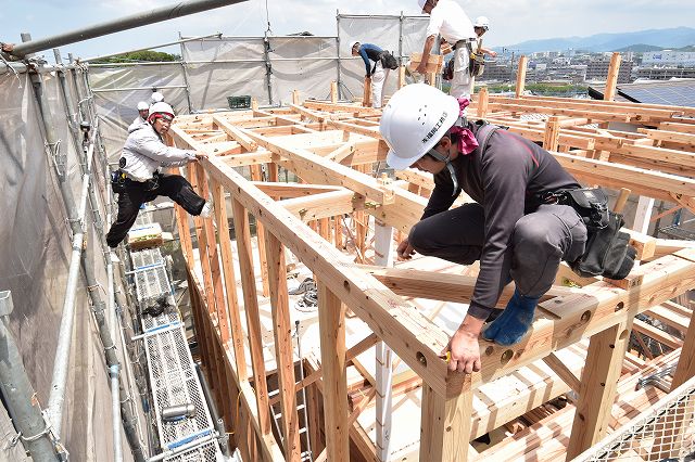
[[[483,91],[469,114],[542,142],[580,181],[628,189],[695,210],[695,179],[688,177],[695,171],[695,108],[501,98]],[[214,219],[195,217],[191,230],[189,217],[180,209],[177,218],[201,356],[218,409],[227,427],[233,429],[233,444],[244,460],[299,461],[302,449],[295,394],[319,381],[323,402],[312,399],[323,406],[326,447],[316,460],[350,460],[351,437],[353,445],[363,448],[363,457],[367,453],[366,459],[379,460],[379,448],[365,435],[355,434],[359,432],[354,429],[355,416],[349,409],[345,368],[357,352],[381,341],[410,368],[409,377],[416,375],[417,385],[421,384],[420,460],[476,459],[477,452],[467,444],[477,435],[473,393],[538,360],[551,365],[566,389],[579,395],[573,424],[569,422],[567,455],[579,454],[609,431],[635,316],[664,311],[669,300],[695,288],[695,249],[687,242],[632,232],[642,264],[629,278],[586,280],[563,269],[558,285],[542,301],[533,329],[521,344],[505,348],[481,341],[482,371],[448,373],[440,357],[448,341],[446,332],[413,309],[408,297],[467,303],[475,277],[361,265],[368,262],[368,217],[382,227],[407,232],[418,221],[432,188],[431,178],[414,171],[401,174],[394,182],[374,178],[374,165],[387,153],[378,132],[379,115],[378,110],[334,101],[305,101],[301,105],[295,101],[274,110],[181,116],[169,131],[169,141],[177,146],[211,155],[202,165],[189,166],[188,176],[201,194],[212,194]],[[591,125],[606,127],[609,123],[639,125],[640,129]],[[239,167],[249,167],[252,179],[244,178]],[[302,182],[279,182],[278,167],[292,171]],[[236,253],[228,238],[226,195],[233,215]],[[353,229],[345,227],[345,215],[354,218]],[[251,216],[257,224],[262,287],[256,287],[254,277]],[[342,252],[348,236],[354,255]],[[386,248],[391,251],[390,245]],[[320,364],[299,384],[286,249],[315,274],[318,285]],[[383,252],[383,247],[375,252]],[[235,258],[239,274],[232,265]],[[195,271],[197,261],[202,280]],[[560,285],[563,278],[581,287]],[[510,293],[505,291],[501,304]],[[266,370],[258,321],[257,304],[263,294],[269,297],[273,311],[274,373],[282,410],[279,438],[271,428],[269,406],[274,399],[266,382],[271,371]],[[682,307],[678,310],[686,320],[692,312]],[[662,316],[677,319],[678,310],[667,309]],[[352,349],[346,348],[344,331],[350,312],[371,330]],[[695,329],[681,325],[686,332],[685,347],[675,375],[682,383],[695,374]],[[578,371],[569,370],[555,355],[584,339],[589,341],[586,364],[578,376]],[[400,383],[394,380],[393,386]],[[533,394],[520,397],[525,406],[490,416],[484,428],[505,424],[538,399]]]

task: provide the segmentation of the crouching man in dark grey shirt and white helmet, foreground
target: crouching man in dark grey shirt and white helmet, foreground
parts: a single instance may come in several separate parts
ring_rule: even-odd
[[[586,227],[574,208],[541,198],[579,189],[577,180],[533,142],[468,123],[467,104],[428,85],[409,85],[384,107],[380,131],[391,167],[434,175],[422,218],[400,243],[399,257],[417,252],[460,265],[480,260],[468,312],[447,346],[450,370],[470,373],[480,370],[481,331],[501,345],[521,341],[560,261],[584,253]],[[450,209],[462,191],[476,203]],[[511,281],[514,296],[483,330]]]

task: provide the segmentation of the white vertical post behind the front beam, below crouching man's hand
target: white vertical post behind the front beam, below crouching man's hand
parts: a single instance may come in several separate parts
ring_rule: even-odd
[[[375,219],[374,264],[382,267],[393,266],[393,227]],[[393,393],[393,351],[383,342],[376,346],[376,392],[377,392],[377,458],[388,461],[391,453],[391,402]]]

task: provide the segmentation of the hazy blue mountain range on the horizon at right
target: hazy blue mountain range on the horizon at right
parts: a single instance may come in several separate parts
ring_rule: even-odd
[[[604,52],[604,51],[657,51],[680,49],[695,44],[695,29],[675,27],[670,29],[649,29],[623,34],[597,34],[590,37],[552,38],[527,40],[521,43],[496,47],[518,53],[536,51],[566,51],[569,49]],[[634,47],[633,50],[631,50]]]

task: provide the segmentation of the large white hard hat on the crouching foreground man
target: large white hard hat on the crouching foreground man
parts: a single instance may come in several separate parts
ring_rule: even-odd
[[[458,101],[426,84],[403,87],[381,114],[379,131],[389,145],[387,164],[408,168],[434,147],[458,120]]]

